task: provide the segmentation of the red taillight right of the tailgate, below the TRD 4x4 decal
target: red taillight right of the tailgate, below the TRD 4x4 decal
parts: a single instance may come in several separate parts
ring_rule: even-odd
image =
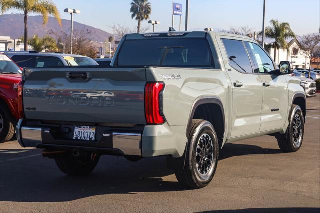
[[[162,124],[165,119],[162,115],[163,82],[146,83],[145,85],[145,118],[147,124]]]

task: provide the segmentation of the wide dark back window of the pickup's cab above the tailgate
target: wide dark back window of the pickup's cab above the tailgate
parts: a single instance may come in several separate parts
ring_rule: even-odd
[[[126,40],[118,66],[214,67],[205,38]]]

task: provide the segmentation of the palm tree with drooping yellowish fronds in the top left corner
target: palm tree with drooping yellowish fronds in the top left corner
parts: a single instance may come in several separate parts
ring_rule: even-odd
[[[38,13],[43,17],[43,24],[48,22],[48,15],[53,15],[61,26],[58,9],[51,0],[0,0],[1,13],[9,9],[18,9],[24,12],[24,50],[28,50],[28,13]]]

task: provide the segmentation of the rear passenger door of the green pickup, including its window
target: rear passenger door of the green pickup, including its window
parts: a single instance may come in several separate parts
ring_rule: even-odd
[[[259,132],[262,105],[262,82],[242,40],[232,36],[217,36],[223,63],[232,83],[231,136]],[[230,119],[229,119],[230,120]]]

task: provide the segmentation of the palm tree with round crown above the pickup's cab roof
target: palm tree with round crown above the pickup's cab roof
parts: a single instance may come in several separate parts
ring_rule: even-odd
[[[131,2],[130,12],[132,12],[132,19],[135,17],[135,20],[138,21],[138,30],[140,32],[141,21],[149,19],[151,14],[151,3],[148,0],[133,0]]]

